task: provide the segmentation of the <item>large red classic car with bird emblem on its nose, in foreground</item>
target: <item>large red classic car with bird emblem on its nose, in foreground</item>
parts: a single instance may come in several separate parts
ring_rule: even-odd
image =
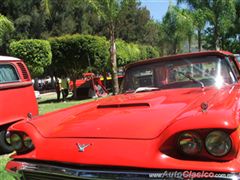
[[[23,179],[239,178],[240,74],[208,51],[127,66],[121,94],[19,122]]]

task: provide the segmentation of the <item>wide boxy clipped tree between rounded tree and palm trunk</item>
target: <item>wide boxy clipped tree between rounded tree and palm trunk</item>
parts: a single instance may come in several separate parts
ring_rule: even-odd
[[[106,68],[108,42],[106,38],[91,35],[65,35],[49,39],[53,53],[50,67],[55,76],[68,76],[73,80],[76,97],[76,80],[82,73],[102,72]]]

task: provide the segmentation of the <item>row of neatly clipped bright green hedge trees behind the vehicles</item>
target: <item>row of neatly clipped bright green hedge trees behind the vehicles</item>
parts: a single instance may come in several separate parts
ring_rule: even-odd
[[[105,37],[75,34],[52,37],[48,41],[32,39],[12,42],[9,52],[24,59],[34,76],[41,75],[48,66],[54,75],[75,79],[84,71],[109,71],[109,48]],[[159,56],[152,46],[127,43],[121,39],[116,40],[116,48],[118,66]]]

